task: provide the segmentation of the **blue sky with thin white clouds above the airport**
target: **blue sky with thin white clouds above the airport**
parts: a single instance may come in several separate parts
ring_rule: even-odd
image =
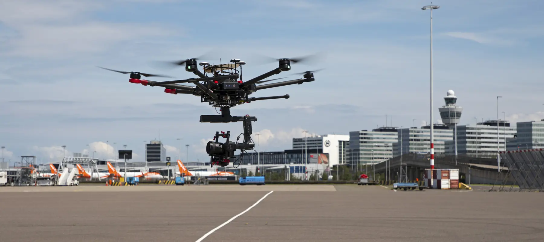
[[[273,70],[259,55],[294,58],[318,53],[277,77],[316,72],[301,85],[259,90],[255,101],[233,107],[256,116],[261,151],[292,147],[293,137],[345,134],[392,125],[407,128],[430,118],[428,1],[183,1],[7,0],[0,2],[0,145],[6,161],[34,155],[58,162],[84,153],[113,159],[159,140],[167,155],[209,159],[205,144],[216,131],[242,123],[199,123],[215,110],[199,98],[166,94],[99,69],[196,77],[183,66],[157,61],[208,54],[210,63],[242,59],[244,77]],[[463,107],[462,124],[499,116],[516,122],[544,118],[544,2],[435,1],[433,11],[434,122],[449,89]],[[148,78],[167,81],[167,78]],[[290,79],[285,79],[290,80]],[[283,80],[282,80],[283,81]],[[505,112],[504,114],[502,112]],[[261,134],[258,137],[255,134]],[[181,140],[177,140],[180,138]],[[189,148],[186,148],[189,144]],[[63,149],[61,146],[66,146]],[[181,152],[180,152],[181,147]]]

